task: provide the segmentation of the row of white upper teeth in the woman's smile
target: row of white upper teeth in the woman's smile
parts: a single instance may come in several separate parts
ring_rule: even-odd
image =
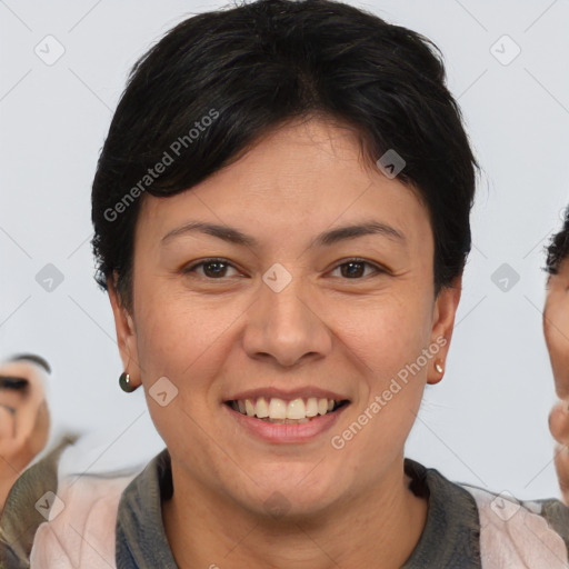
[[[231,406],[249,417],[259,419],[306,419],[317,415],[326,415],[333,409],[333,399],[309,397],[306,401],[301,398],[284,401],[278,397],[258,399],[240,399],[232,401]]]

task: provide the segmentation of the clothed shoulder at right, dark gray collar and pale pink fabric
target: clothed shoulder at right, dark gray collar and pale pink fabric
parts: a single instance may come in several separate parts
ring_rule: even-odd
[[[569,508],[561,501],[520,501],[450,481],[410,459],[406,472],[413,492],[429,496],[427,526],[409,567],[569,567]]]

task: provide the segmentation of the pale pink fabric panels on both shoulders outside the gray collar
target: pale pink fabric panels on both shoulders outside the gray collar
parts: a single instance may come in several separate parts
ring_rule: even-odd
[[[31,567],[109,569],[114,563],[114,526],[120,496],[133,476],[104,480],[82,477],[62,485],[64,508],[36,535]],[[462,486],[462,485],[461,485]],[[468,486],[480,515],[482,569],[567,569],[565,541],[540,515],[540,507]],[[497,500],[505,500],[502,502]],[[499,505],[499,506],[498,506]]]

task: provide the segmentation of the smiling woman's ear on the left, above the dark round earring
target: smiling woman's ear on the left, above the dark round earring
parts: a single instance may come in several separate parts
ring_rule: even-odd
[[[112,278],[107,279],[107,289],[111,301],[112,315],[114,316],[114,328],[117,330],[117,342],[119,345],[120,358],[124,371],[130,376],[130,383],[133,387],[141,385],[140,367],[137,347],[137,331],[132,315],[122,303],[117,290],[117,272]]]

